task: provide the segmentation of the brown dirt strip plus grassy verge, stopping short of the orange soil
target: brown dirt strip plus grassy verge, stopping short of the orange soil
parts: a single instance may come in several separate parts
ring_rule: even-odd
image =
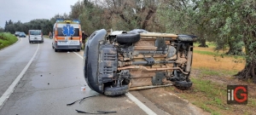
[[[174,86],[144,89],[138,92],[160,109],[173,115],[254,115],[256,114],[256,85],[234,78],[223,71],[209,75],[206,70],[193,69],[193,86],[180,90]],[[248,87],[247,105],[227,104],[227,85],[242,84]]]

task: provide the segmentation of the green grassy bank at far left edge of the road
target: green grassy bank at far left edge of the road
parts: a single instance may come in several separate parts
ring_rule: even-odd
[[[0,49],[16,43],[18,38],[9,32],[0,32]]]

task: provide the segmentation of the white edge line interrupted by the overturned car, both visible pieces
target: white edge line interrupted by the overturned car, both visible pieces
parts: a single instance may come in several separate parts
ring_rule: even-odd
[[[73,52],[76,55],[79,55],[76,52]],[[84,59],[83,56],[79,55],[80,58]],[[155,112],[153,112],[148,106],[145,106],[143,102],[137,100],[137,98],[134,95],[131,95],[129,92],[125,94],[127,97],[130,98],[131,101],[137,104],[141,109],[143,109],[144,112],[146,112],[148,115],[157,115]]]

